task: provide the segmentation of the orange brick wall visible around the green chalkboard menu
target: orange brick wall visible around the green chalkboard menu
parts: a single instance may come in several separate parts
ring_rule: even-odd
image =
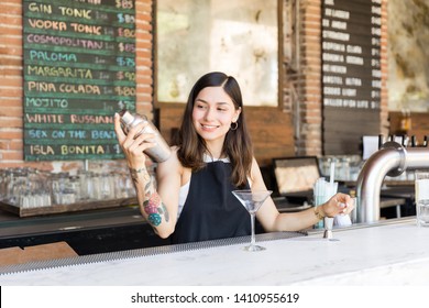
[[[136,108],[152,112],[152,0],[136,0]],[[0,2],[0,168],[33,166],[43,169],[70,170],[84,162],[23,161],[23,78],[22,78],[22,1]],[[89,162],[91,166],[109,165]],[[109,162],[112,165],[123,162]]]

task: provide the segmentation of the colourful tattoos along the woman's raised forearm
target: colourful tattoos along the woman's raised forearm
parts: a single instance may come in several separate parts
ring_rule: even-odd
[[[161,201],[160,195],[156,193],[152,178],[145,168],[130,168],[131,177],[134,182],[135,188],[138,188],[139,174],[142,174],[145,180],[144,185],[144,200],[143,210],[147,215],[147,221],[153,227],[157,227],[162,222],[164,216],[165,221],[169,221],[169,215],[166,206]]]

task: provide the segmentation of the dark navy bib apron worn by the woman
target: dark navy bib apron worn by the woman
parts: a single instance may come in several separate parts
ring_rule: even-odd
[[[244,188],[249,189],[249,184]],[[177,244],[250,235],[250,215],[232,195],[234,189],[238,188],[231,184],[229,163],[207,163],[205,168],[193,173],[172,242]]]

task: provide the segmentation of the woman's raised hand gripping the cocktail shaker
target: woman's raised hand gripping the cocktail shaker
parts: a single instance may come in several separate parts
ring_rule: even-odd
[[[119,145],[125,154],[130,167],[136,168],[142,165],[144,166],[146,155],[143,152],[146,148],[155,146],[155,143],[151,142],[154,134],[143,133],[135,138],[145,125],[147,125],[146,122],[139,123],[125,134],[121,128],[121,117],[114,113],[114,132],[117,133]]]

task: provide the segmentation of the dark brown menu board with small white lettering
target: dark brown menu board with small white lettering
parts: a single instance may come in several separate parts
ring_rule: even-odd
[[[323,154],[380,133],[382,0],[322,0]]]

